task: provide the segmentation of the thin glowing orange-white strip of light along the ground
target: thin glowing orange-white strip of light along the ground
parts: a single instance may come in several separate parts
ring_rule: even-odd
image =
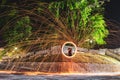
[[[0,71],[6,74],[21,74],[21,75],[81,75],[81,76],[120,76],[120,72],[104,72],[104,73],[45,73],[45,72],[17,72],[17,71]]]

